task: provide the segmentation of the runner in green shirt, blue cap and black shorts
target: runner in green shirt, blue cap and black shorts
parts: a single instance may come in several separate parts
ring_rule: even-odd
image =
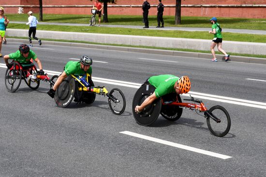
[[[229,60],[230,55],[228,55],[223,49],[222,49],[222,29],[220,27],[220,24],[217,23],[217,18],[212,17],[210,19],[211,21],[211,31],[209,31],[210,34],[214,34],[214,38],[210,45],[210,51],[212,53],[213,59],[211,61],[217,62],[214,47],[217,45],[217,48],[220,52],[222,52],[225,55],[225,61]]]

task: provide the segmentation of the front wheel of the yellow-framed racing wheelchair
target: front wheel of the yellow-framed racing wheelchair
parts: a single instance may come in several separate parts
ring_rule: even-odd
[[[113,88],[109,92],[109,96],[116,100],[113,102],[110,98],[108,99],[109,107],[112,112],[116,115],[122,114],[126,108],[126,99],[123,92],[118,88]]]

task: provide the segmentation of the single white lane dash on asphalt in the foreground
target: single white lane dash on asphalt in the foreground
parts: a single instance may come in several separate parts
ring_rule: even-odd
[[[227,155],[223,155],[223,154],[219,154],[219,153],[216,153],[216,152],[211,152],[211,151],[207,151],[207,150],[203,150],[203,149],[199,149],[199,148],[193,148],[193,147],[186,146],[186,145],[181,145],[181,144],[178,144],[178,143],[173,143],[173,142],[170,142],[170,141],[165,141],[165,140],[162,140],[162,139],[153,138],[151,136],[146,136],[146,135],[143,135],[143,134],[133,133],[133,132],[129,132],[129,131],[124,131],[124,132],[119,132],[119,133],[127,134],[127,135],[134,136],[134,137],[137,137],[137,138],[142,138],[142,139],[153,141],[153,142],[156,142],[156,143],[161,143],[161,144],[168,145],[168,146],[173,146],[173,147],[176,147],[176,148],[190,150],[192,152],[197,152],[197,153],[205,154],[205,155],[208,155],[208,156],[217,157],[217,158],[220,158],[220,159],[232,158],[231,156],[227,156]]]

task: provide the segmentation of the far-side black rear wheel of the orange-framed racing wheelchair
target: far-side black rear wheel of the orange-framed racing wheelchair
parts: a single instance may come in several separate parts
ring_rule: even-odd
[[[177,96],[178,103],[182,103],[180,95],[176,93],[172,95],[174,97]],[[177,100],[175,100],[175,102],[177,102]],[[180,108],[179,106],[162,104],[161,115],[163,116],[163,118],[167,120],[176,121],[181,117],[182,113],[183,113],[183,108]]]

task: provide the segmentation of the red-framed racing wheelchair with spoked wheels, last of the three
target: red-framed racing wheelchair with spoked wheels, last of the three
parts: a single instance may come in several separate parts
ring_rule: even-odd
[[[39,88],[41,80],[51,84],[50,77],[47,74],[39,74],[33,63],[21,64],[13,60],[10,64],[12,67],[7,68],[5,72],[5,87],[9,92],[15,92],[22,79],[33,90]]]

